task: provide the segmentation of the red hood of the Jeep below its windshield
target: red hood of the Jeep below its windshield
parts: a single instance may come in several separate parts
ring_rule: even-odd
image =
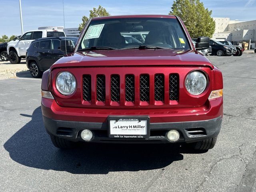
[[[60,58],[53,68],[90,66],[210,66],[212,63],[194,50],[142,49],[142,50],[94,50],[76,52]]]

